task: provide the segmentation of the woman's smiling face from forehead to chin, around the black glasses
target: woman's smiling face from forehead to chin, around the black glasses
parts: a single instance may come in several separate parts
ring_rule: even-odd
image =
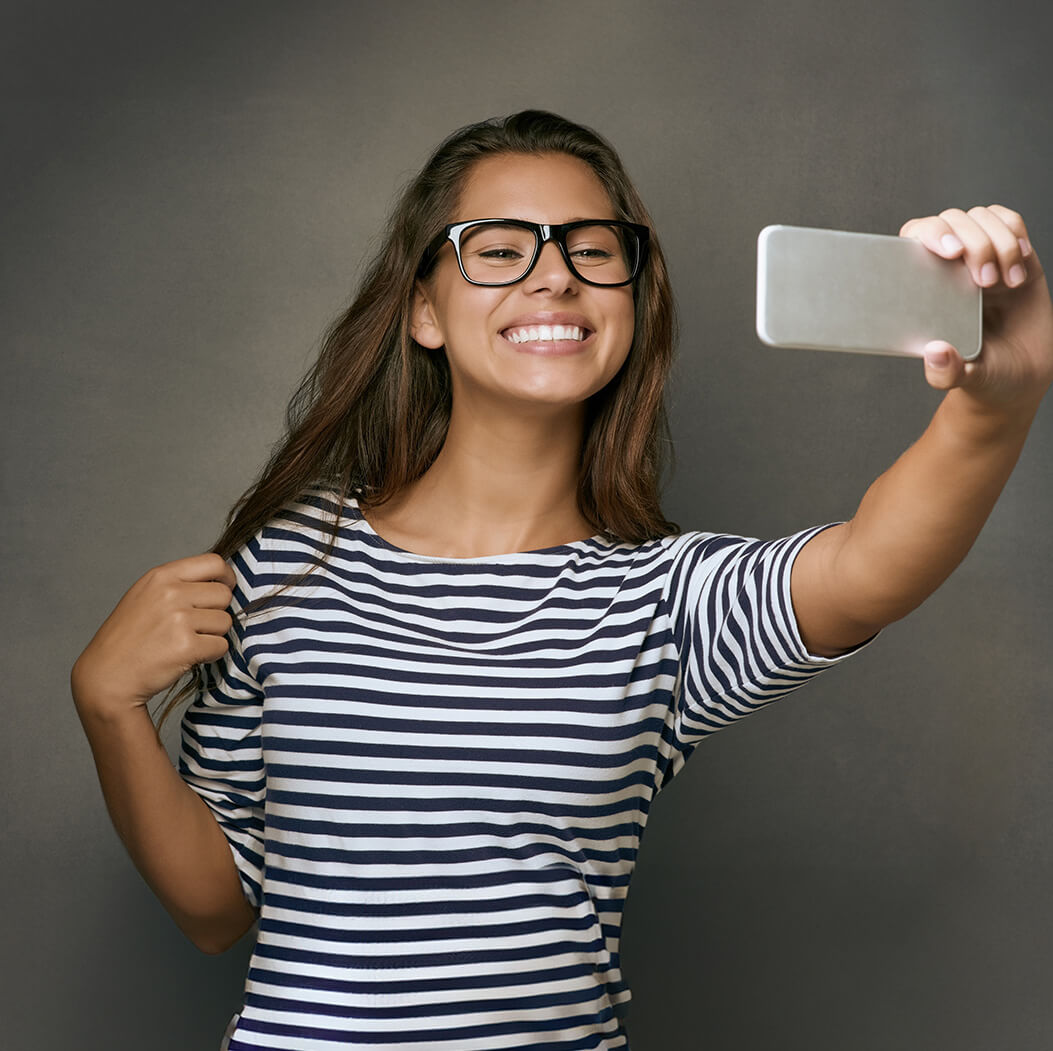
[[[561,223],[616,216],[584,161],[567,154],[502,154],[475,164],[452,221],[495,218]],[[552,242],[518,284],[470,284],[448,242],[417,295],[413,320],[417,342],[445,348],[455,406],[580,406],[629,354],[633,291],[585,284]],[[529,338],[532,328],[557,324],[580,329],[583,338]]]

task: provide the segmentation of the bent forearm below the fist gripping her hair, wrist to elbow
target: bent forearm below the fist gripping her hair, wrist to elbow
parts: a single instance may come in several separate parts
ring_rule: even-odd
[[[200,949],[233,945],[255,915],[222,830],[173,767],[146,709],[100,714],[75,698],[114,827],[143,878]]]

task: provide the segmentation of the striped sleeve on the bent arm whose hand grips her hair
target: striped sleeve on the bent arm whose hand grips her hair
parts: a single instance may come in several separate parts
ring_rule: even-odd
[[[229,612],[229,649],[205,665],[204,685],[182,719],[179,773],[205,801],[223,830],[249,903],[260,907],[263,878],[265,779],[260,722],[263,691],[251,647],[258,538],[231,559],[237,584]]]

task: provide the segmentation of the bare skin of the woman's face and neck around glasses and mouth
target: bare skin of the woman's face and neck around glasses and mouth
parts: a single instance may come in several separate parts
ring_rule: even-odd
[[[452,221],[615,218],[584,162],[562,154],[479,161]],[[576,353],[542,355],[502,331],[545,313],[594,330]],[[410,551],[443,557],[535,551],[594,532],[577,507],[584,405],[617,373],[633,338],[633,291],[579,281],[545,244],[518,284],[480,287],[461,277],[452,244],[414,298],[411,332],[445,354],[453,381],[446,441],[435,463],[382,508],[374,529]]]

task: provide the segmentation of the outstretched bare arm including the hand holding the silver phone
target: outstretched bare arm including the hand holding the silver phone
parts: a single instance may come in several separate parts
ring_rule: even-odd
[[[1019,216],[1000,205],[951,210],[900,233],[961,256],[985,286],[984,351],[965,364],[948,344],[930,344],[927,378],[948,391],[932,422],[870,487],[852,520],[798,556],[794,608],[819,655],[863,641],[947,579],[991,513],[1053,381],[1053,306]]]

